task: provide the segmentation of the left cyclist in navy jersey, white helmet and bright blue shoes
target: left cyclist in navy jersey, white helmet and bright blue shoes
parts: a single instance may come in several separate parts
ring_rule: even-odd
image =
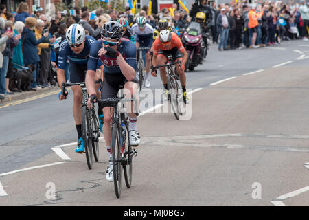
[[[72,24],[65,34],[66,39],[60,43],[58,50],[58,85],[65,83],[65,68],[67,66],[67,58],[69,59],[69,72],[71,83],[84,82],[87,70],[87,61],[91,45],[95,42],[92,36],[85,36],[84,28],[78,24]],[[96,72],[96,78],[100,72]],[[78,133],[78,144],[76,146],[77,153],[84,152],[84,140],[82,140],[82,89],[79,85],[71,87],[73,90],[73,117],[76,123]],[[97,89],[98,90],[98,89]],[[63,100],[67,96],[59,93],[59,99]]]

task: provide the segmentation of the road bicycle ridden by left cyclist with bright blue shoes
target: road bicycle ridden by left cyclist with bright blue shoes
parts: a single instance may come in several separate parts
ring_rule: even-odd
[[[95,83],[102,85],[102,80],[96,80]],[[100,122],[93,104],[91,104],[90,108],[87,107],[89,95],[87,93],[86,83],[62,83],[62,95],[65,94],[65,87],[71,87],[73,85],[80,85],[82,87],[82,140],[84,140],[87,166],[91,170],[93,157],[95,162],[99,160]]]

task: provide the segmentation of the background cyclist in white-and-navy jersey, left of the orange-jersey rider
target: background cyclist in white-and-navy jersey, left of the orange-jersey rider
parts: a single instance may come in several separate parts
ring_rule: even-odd
[[[132,26],[133,33],[135,34],[136,48],[139,47],[152,47],[153,43],[153,32],[155,31],[149,23],[146,23],[146,17],[138,17],[136,23]],[[151,67],[151,55],[150,51],[146,52],[146,76],[145,76],[145,87],[150,87],[150,67]]]

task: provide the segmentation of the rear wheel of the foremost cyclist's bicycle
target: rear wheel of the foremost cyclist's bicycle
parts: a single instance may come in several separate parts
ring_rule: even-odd
[[[126,187],[130,188],[132,183],[132,159],[133,159],[133,148],[130,145],[130,137],[128,133],[128,125],[126,124],[126,142],[122,146],[124,157],[126,158],[126,164],[123,164],[124,168],[124,180],[126,181]]]

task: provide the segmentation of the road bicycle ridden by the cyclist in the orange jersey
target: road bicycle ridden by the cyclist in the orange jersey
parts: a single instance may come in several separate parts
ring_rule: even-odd
[[[166,61],[164,65],[157,65],[156,67],[152,67],[152,69],[166,67],[166,73],[168,75],[168,100],[172,106],[175,118],[179,120],[180,115],[183,114],[183,93],[181,84],[179,82],[179,75],[176,72],[175,64],[179,64],[181,66],[180,61],[173,62],[172,55],[169,55],[168,61]]]

